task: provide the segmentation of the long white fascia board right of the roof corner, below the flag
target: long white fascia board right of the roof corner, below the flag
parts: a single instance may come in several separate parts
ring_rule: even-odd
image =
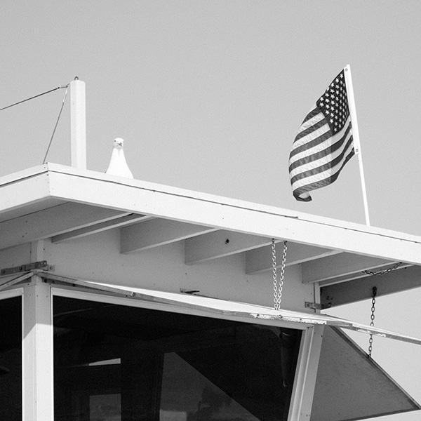
[[[51,171],[50,185],[56,199],[421,265],[421,238],[386,229],[316,220],[273,206],[104,177],[92,171]]]

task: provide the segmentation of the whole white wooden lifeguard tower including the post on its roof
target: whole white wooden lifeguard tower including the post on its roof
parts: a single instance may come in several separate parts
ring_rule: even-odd
[[[421,286],[420,237],[88,171],[71,85],[72,166],[0,178],[1,420],[421,409],[347,331],[421,340],[321,314]]]

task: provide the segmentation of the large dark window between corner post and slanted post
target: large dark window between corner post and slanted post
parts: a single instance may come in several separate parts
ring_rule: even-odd
[[[286,420],[300,336],[56,297],[55,420]]]

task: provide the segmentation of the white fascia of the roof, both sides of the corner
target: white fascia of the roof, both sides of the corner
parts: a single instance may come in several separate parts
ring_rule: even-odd
[[[421,265],[417,236],[57,164],[0,178],[0,192],[0,221],[75,203]]]

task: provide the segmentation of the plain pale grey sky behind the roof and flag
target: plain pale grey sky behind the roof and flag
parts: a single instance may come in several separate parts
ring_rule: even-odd
[[[288,178],[302,119],[351,65],[371,225],[421,236],[421,1],[19,0],[0,15],[0,108],[78,76],[88,169],[121,137],[139,180],[363,224],[355,157],[312,203]],[[43,162],[64,95],[0,112],[0,176]],[[48,161],[70,163],[69,96]],[[421,338],[420,302],[378,298],[376,326]],[[328,313],[369,324],[370,307]],[[421,347],[376,338],[373,357],[421,402]]]

